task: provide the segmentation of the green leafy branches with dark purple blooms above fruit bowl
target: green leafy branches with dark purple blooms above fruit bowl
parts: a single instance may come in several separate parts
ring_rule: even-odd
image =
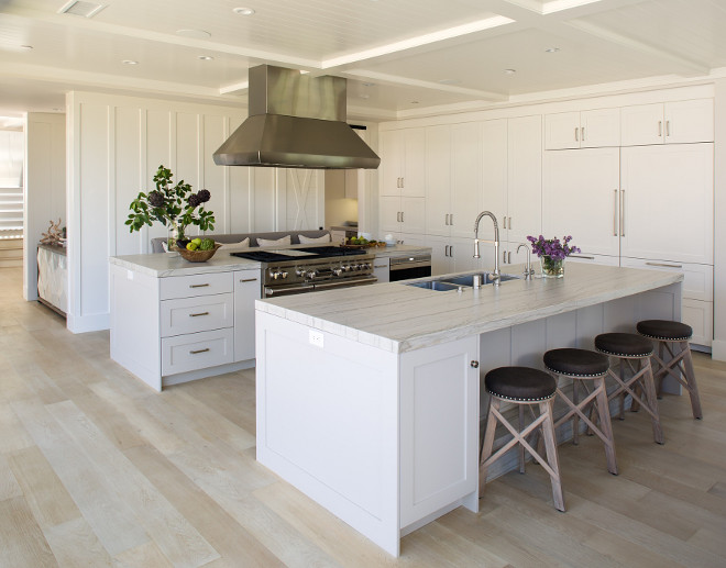
[[[184,180],[173,185],[173,176],[170,169],[160,166],[154,175],[156,189],[148,194],[141,191],[131,202],[131,213],[125,221],[130,233],[144,225],[152,226],[154,221],[180,229],[188,225],[197,225],[202,231],[215,229],[215,214],[204,207],[211,197],[209,191],[195,192]]]

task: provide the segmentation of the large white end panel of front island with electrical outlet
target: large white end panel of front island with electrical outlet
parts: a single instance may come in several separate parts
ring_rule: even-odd
[[[398,357],[256,312],[257,460],[399,554]]]

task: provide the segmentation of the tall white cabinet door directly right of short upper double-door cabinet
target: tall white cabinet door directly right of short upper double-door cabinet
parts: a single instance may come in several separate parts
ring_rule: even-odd
[[[426,129],[426,234],[449,236],[451,126]]]

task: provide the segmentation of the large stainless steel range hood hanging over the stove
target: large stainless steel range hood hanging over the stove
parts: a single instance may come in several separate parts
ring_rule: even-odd
[[[250,115],[215,152],[220,166],[374,169],[381,158],[346,123],[345,79],[250,69]]]

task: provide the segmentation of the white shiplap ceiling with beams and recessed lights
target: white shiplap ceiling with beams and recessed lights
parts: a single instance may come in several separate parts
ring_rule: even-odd
[[[70,3],[0,0],[0,114],[63,109],[74,89],[245,105],[262,63],[346,77],[349,115],[371,120],[726,68],[726,0]]]

